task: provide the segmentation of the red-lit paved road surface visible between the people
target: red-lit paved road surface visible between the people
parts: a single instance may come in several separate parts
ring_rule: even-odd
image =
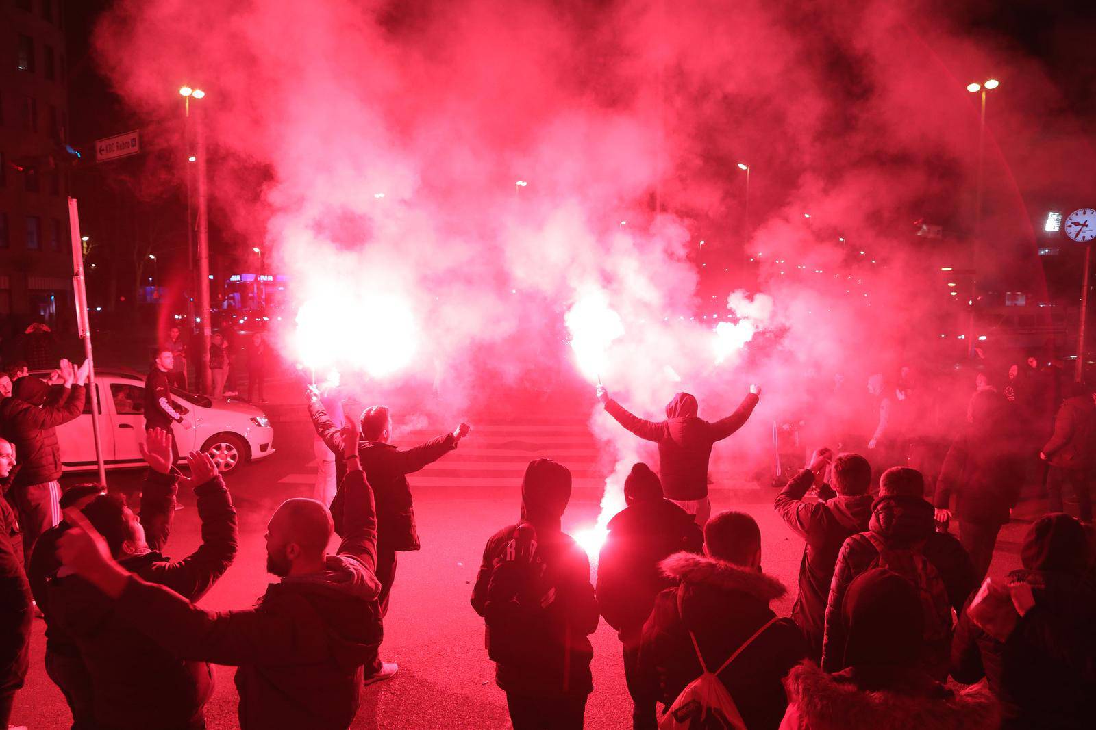
[[[240,514],[241,548],[235,565],[203,599],[212,610],[246,607],[263,593],[272,578],[264,573],[265,523],[282,500],[311,496],[315,474],[311,431],[304,407],[271,407],[277,452],[229,478]],[[437,432],[444,429],[438,428]],[[399,443],[435,436],[429,430],[406,433]],[[482,619],[468,603],[483,544],[500,526],[516,521],[521,474],[529,459],[548,455],[574,471],[574,498],[564,529],[593,523],[606,471],[597,443],[580,420],[527,416],[476,424],[473,434],[441,462],[412,477],[423,549],[403,553],[385,625],[383,658],[400,664],[390,682],[363,691],[354,728],[507,728],[505,696],[494,685],[493,664],[483,648]],[[136,485],[137,472],[115,473],[112,485]],[[66,482],[79,480],[66,477]],[[789,588],[774,604],[787,615],[795,598],[795,579],[802,544],[772,510],[772,490],[713,493],[713,509],[752,513],[763,535],[763,566]],[[192,494],[181,495],[184,509],[175,517],[165,549],[181,557],[198,544],[197,513]],[[1040,506],[1027,505],[1034,512]],[[1006,526],[992,573],[1018,565],[1025,523]],[[592,637],[594,693],[586,708],[586,727],[630,727],[630,703],[624,682],[620,645],[602,623]],[[13,722],[32,730],[67,728],[69,715],[57,687],[43,668],[43,624],[35,622],[32,670],[15,700]],[[140,671],[135,667],[134,671]],[[217,687],[206,708],[208,728],[237,728],[235,670],[217,667]]]

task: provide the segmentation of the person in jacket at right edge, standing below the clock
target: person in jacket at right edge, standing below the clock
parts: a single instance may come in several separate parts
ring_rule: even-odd
[[[1076,385],[1076,395],[1058,409],[1054,432],[1039,452],[1050,462],[1047,476],[1049,510],[1063,512],[1062,491],[1066,485],[1077,500],[1077,512],[1084,525],[1092,525],[1092,493],[1096,472],[1096,392],[1087,385]]]

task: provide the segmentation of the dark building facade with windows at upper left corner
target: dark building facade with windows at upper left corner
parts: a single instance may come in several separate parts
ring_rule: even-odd
[[[0,334],[75,328],[60,0],[0,0]]]

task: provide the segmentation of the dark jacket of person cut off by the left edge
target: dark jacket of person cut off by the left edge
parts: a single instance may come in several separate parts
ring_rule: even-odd
[[[0,695],[23,686],[30,667],[31,587],[23,572],[23,553],[15,512],[0,497]]]

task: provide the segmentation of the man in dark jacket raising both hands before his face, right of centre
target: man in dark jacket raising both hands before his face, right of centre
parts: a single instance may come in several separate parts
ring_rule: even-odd
[[[830,451],[814,452],[808,468],[797,474],[776,497],[777,513],[792,532],[803,538],[803,558],[799,564],[799,595],[791,607],[791,618],[807,637],[809,658],[822,659],[825,630],[825,604],[837,553],[845,538],[868,529],[872,497],[871,465],[859,454],[841,454],[833,462],[833,486],[821,477],[830,463]],[[818,485],[818,501],[803,497]]]

